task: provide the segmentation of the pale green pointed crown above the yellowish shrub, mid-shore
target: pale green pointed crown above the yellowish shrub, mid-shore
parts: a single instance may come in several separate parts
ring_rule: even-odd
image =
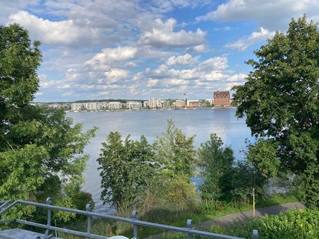
[[[181,129],[177,129],[174,121],[169,119],[162,137],[157,137],[153,144],[156,161],[162,170],[167,170],[172,177],[185,175],[189,180],[195,170],[194,138],[186,137]]]

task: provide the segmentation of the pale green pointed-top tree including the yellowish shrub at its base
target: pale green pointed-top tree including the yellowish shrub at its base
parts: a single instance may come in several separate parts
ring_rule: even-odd
[[[153,143],[155,161],[159,165],[150,192],[157,199],[157,206],[179,210],[194,207],[196,191],[191,177],[195,172],[195,136],[186,136],[172,119],[162,136]]]

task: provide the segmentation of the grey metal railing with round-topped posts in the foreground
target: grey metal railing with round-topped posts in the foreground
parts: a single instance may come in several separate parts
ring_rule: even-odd
[[[79,235],[79,236],[82,236],[85,238],[106,239],[107,238],[106,236],[96,235],[96,234],[91,233],[91,218],[92,217],[103,218],[103,219],[108,219],[108,220],[112,220],[112,221],[121,221],[124,223],[130,223],[133,225],[133,237],[134,238],[138,238],[138,226],[159,228],[159,229],[162,229],[164,231],[174,231],[174,232],[178,232],[178,233],[186,233],[188,239],[191,239],[193,237],[193,235],[201,235],[201,236],[205,236],[208,238],[218,238],[218,239],[227,239],[227,238],[228,239],[236,239],[237,238],[237,237],[230,236],[230,235],[221,235],[218,233],[211,233],[211,232],[207,232],[207,231],[199,231],[199,230],[192,229],[190,219],[187,220],[187,222],[186,222],[186,228],[181,228],[181,227],[177,227],[177,226],[168,226],[168,225],[159,224],[159,223],[151,223],[148,221],[140,221],[137,219],[138,213],[136,211],[133,211],[132,218],[124,218],[121,216],[105,215],[105,214],[98,214],[98,213],[92,212],[90,204],[86,204],[86,211],[82,211],[82,210],[78,210],[78,209],[70,209],[70,208],[63,207],[63,206],[54,206],[54,205],[52,205],[52,200],[50,197],[48,197],[46,199],[45,204],[41,204],[38,202],[29,202],[29,201],[24,201],[24,200],[16,200],[12,204],[9,204],[9,201],[0,202],[0,209],[2,209],[0,211],[0,216],[2,216],[4,213],[6,213],[6,211],[9,211],[9,209],[11,209],[13,206],[16,206],[17,204],[37,206],[40,208],[47,209],[47,224],[45,225],[45,224],[35,223],[32,221],[26,221],[26,220],[21,220],[21,219],[0,220],[0,223],[16,221],[17,223],[21,223],[24,225],[35,226],[38,228],[44,228],[45,229],[45,239],[48,238],[48,233],[50,230],[58,231],[58,232],[62,232],[62,233],[69,233],[72,235]],[[81,231],[70,230],[67,228],[60,228],[57,226],[51,226],[51,211],[52,210],[67,211],[67,212],[71,212],[74,214],[81,214],[81,215],[87,216],[86,233],[81,232]],[[252,233],[252,236],[254,239],[257,239],[258,238],[258,231],[254,230]],[[237,239],[240,239],[240,238],[237,238]]]

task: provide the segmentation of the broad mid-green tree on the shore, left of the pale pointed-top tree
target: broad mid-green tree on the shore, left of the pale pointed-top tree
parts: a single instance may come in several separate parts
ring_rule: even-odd
[[[145,136],[133,141],[111,132],[102,143],[97,161],[101,170],[101,199],[116,206],[117,211],[136,203],[155,174],[154,153]]]

